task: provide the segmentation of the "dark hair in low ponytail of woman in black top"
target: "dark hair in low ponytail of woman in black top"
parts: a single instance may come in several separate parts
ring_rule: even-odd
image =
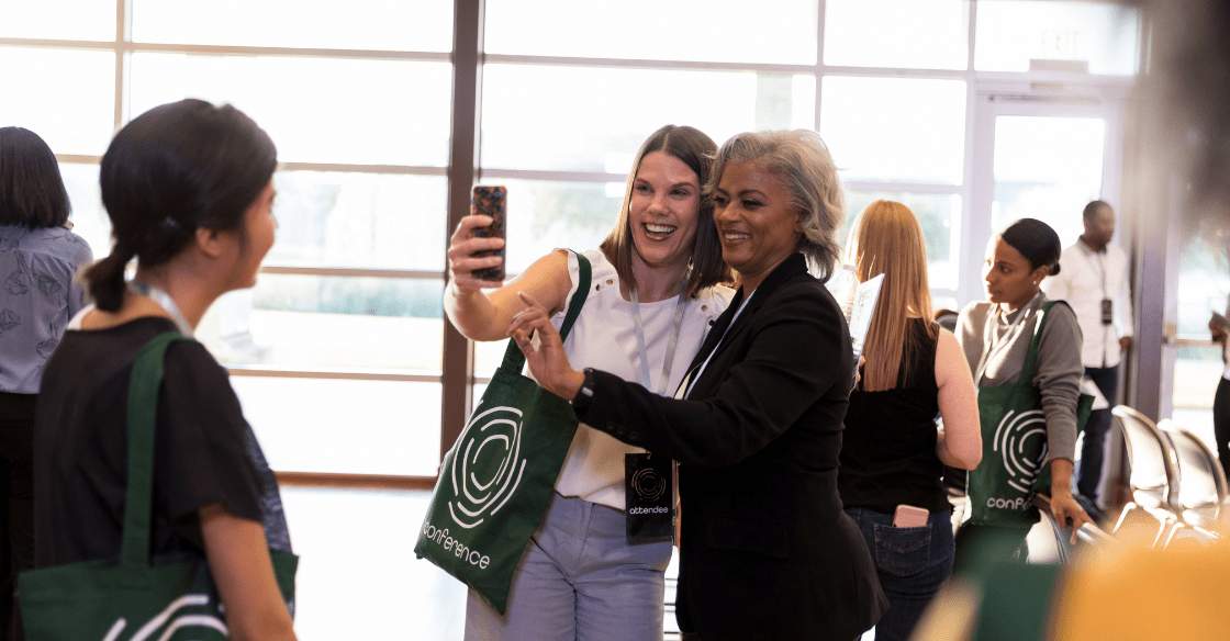
[[[98,309],[119,309],[124,269],[134,257],[156,267],[183,251],[198,229],[242,231],[244,212],[277,164],[269,137],[229,105],[182,100],[128,123],[100,171],[114,245],[85,272]]]

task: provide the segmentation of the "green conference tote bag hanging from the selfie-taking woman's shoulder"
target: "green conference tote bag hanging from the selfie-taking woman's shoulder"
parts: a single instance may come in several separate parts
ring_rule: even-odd
[[[560,327],[567,337],[589,293],[589,261]],[[577,433],[568,401],[520,374],[525,356],[509,340],[453,449],[444,455],[415,554],[470,586],[499,614],[513,572],[546,513]]]

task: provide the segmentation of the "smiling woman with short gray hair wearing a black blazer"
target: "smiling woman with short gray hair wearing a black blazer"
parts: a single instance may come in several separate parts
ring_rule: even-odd
[[[743,133],[718,150],[706,191],[739,290],[678,399],[573,369],[529,293],[512,336],[582,422],[679,461],[684,640],[857,639],[887,603],[838,496],[855,362],[824,287],[845,215],[836,166],[815,132]]]

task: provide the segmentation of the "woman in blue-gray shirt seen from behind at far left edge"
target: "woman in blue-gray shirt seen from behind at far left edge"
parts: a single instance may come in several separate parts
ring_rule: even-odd
[[[75,276],[93,262],[69,231],[69,193],[47,143],[0,128],[0,640],[20,640],[12,592],[34,565],[34,401],[47,359],[85,305]]]

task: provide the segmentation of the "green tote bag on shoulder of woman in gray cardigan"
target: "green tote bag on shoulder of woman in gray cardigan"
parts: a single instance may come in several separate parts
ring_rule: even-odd
[[[969,471],[967,480],[968,525],[1027,529],[1038,522],[1028,500],[1036,490],[1049,491],[1050,470],[1042,469],[1047,454],[1047,421],[1042,415],[1041,395],[1033,386],[1033,374],[1042,328],[1055,303],[1052,300],[1042,308],[1020,380],[1015,385],[978,388],[983,461]],[[1093,397],[1081,394],[1076,402],[1077,434],[1085,429],[1092,406]]]

